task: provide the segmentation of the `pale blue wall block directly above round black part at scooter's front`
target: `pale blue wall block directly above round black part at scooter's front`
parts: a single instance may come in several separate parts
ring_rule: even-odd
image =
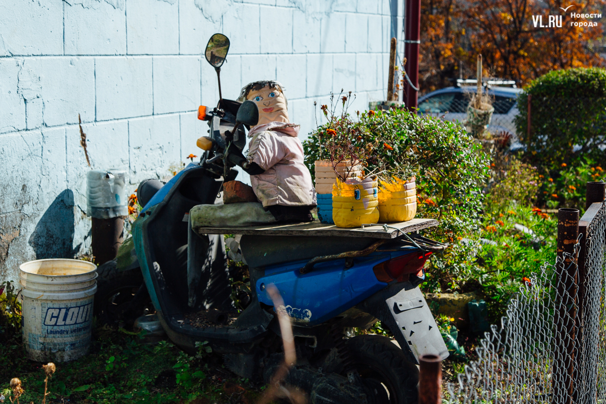
[[[181,167],[179,115],[150,116],[128,121],[130,182],[171,174]]]

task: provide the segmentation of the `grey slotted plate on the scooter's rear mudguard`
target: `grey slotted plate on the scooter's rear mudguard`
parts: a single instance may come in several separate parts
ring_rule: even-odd
[[[429,354],[439,356],[442,360],[448,357],[448,348],[438,324],[419,288],[401,290],[385,303],[417,360]]]

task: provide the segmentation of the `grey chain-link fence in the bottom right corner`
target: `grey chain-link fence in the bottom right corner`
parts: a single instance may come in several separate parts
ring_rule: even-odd
[[[501,328],[479,341],[478,360],[448,383],[445,403],[606,402],[604,202],[578,224],[574,253],[559,254],[521,286]]]

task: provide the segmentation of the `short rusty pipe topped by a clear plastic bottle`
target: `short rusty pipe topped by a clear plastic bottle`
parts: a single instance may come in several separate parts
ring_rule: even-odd
[[[113,260],[118,255],[118,248],[124,241],[124,216],[111,219],[97,219],[92,217],[90,230],[90,247],[93,250],[93,261],[101,265]]]

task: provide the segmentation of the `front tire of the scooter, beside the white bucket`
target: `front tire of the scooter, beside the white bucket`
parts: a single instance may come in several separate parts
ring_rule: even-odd
[[[97,292],[93,313],[104,324],[126,323],[132,325],[136,317],[142,313],[135,313],[139,306],[145,305],[149,299],[145,288],[141,268],[121,270],[116,260],[105,262],[97,268]],[[144,296],[141,296],[144,295]],[[138,296],[136,307],[134,298]],[[143,303],[139,302],[143,300]]]

